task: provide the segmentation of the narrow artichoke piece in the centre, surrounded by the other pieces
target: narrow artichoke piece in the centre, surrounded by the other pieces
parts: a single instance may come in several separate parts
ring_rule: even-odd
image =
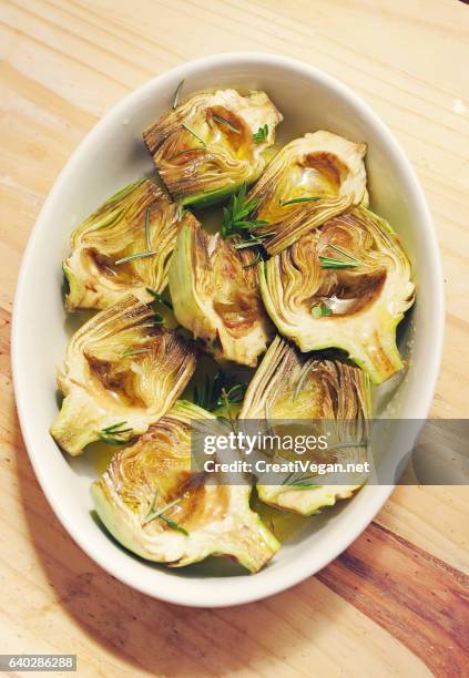
[[[174,315],[218,361],[254,367],[272,336],[253,261],[252,251],[197,223],[179,233],[170,266]]]

